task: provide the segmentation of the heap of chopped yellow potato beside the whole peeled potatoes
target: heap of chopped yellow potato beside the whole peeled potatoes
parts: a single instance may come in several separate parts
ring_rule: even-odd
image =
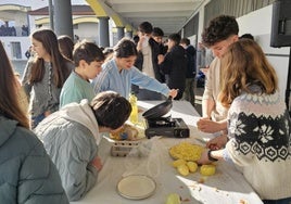
[[[169,149],[169,154],[172,157],[185,161],[198,161],[201,157],[201,153],[204,148],[198,144],[191,144],[189,142],[180,142]]]

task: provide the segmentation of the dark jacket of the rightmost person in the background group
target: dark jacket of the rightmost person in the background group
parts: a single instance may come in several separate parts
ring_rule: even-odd
[[[197,72],[197,50],[193,46],[188,46],[186,48],[187,54],[187,69],[186,78],[194,78]]]

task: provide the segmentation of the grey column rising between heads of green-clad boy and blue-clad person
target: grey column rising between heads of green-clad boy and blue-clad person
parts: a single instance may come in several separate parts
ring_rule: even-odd
[[[98,37],[99,37],[99,46],[106,48],[110,47],[109,41],[109,17],[98,17],[99,20],[99,28],[98,28]]]

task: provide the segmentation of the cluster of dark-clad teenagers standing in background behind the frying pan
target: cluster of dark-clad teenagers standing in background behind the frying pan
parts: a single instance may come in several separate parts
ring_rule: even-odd
[[[187,80],[195,77],[195,49],[190,46],[189,39],[181,39],[179,34],[170,34],[166,44],[163,38],[164,31],[160,27],[142,22],[138,27],[138,35],[134,37],[138,51],[135,66],[146,75],[166,84],[170,89],[178,89],[175,100],[185,99],[194,105],[194,81]],[[194,49],[194,52],[189,48]],[[132,91],[140,100],[164,99],[155,91],[138,86],[134,86]]]

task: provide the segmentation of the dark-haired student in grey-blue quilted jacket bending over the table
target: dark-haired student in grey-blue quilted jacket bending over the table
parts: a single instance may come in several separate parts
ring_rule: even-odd
[[[55,164],[69,201],[80,200],[94,186],[102,168],[98,156],[99,132],[117,131],[131,112],[118,93],[99,93],[69,103],[50,115],[35,129]]]

